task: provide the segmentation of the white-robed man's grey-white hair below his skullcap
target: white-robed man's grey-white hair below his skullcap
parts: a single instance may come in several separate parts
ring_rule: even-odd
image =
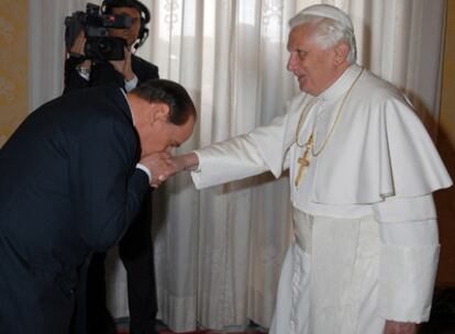
[[[330,18],[299,13],[289,20],[289,27],[292,30],[296,26],[306,23],[314,25],[315,30],[313,37],[320,47],[326,49],[341,42],[346,42],[349,46],[347,62],[354,64],[357,60],[355,35],[351,26]]]

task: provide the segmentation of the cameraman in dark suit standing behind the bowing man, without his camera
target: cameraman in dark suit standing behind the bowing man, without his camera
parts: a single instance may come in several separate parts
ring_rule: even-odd
[[[64,93],[88,87],[114,84],[125,91],[148,79],[158,78],[158,67],[135,56],[148,35],[151,20],[148,9],[137,0],[104,0],[103,14],[127,15],[129,29],[110,29],[110,36],[125,40],[123,60],[93,62],[85,58],[86,38],[81,33],[71,46],[65,62]],[[119,255],[126,270],[132,334],[155,334],[157,314],[155,268],[152,227],[152,189],[148,189],[140,213],[119,242]],[[96,253],[88,266],[87,293],[78,291],[78,327],[87,327],[88,334],[115,333],[114,321],[107,309],[106,253]],[[87,307],[87,309],[86,309]],[[87,319],[86,319],[87,314]]]

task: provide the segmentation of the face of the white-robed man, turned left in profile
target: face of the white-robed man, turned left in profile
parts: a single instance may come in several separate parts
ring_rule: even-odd
[[[321,48],[314,41],[314,25],[304,23],[297,25],[289,33],[288,70],[299,81],[300,90],[319,96],[337,78],[336,46]]]

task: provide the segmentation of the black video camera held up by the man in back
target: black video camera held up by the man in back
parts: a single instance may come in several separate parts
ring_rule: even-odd
[[[85,57],[93,62],[124,59],[126,41],[109,36],[108,29],[127,29],[132,19],[127,15],[100,13],[100,7],[87,3],[86,12],[77,11],[65,18],[65,46],[70,49],[80,31],[86,35]]]

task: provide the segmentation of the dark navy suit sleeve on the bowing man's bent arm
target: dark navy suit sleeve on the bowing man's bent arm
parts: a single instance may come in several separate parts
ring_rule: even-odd
[[[131,125],[101,120],[88,132],[76,141],[70,158],[71,203],[79,235],[102,252],[137,214],[148,180],[135,168],[138,144]]]

